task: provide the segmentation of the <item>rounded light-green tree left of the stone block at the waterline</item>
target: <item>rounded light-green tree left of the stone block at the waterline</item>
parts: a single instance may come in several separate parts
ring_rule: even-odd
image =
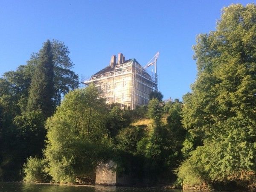
[[[112,153],[105,128],[105,101],[93,84],[70,91],[47,120],[45,157],[55,182],[73,183],[76,176],[93,177],[96,163]]]

